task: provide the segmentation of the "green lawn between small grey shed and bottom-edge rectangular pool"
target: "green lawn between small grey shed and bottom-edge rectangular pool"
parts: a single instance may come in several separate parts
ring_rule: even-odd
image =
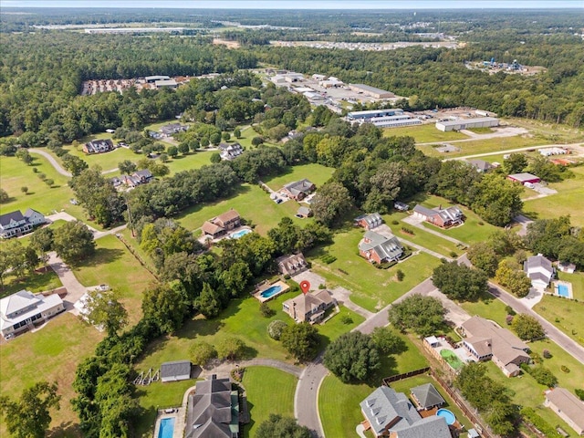
[[[154,433],[157,409],[177,407],[183,404],[183,395],[196,384],[190,381],[156,381],[148,386],[137,386],[135,398],[142,408],[142,415],[136,424],[136,436],[151,438]]]

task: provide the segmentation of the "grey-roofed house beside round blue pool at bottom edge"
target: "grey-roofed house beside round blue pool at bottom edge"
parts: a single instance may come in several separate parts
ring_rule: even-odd
[[[381,386],[360,402],[366,419],[366,430],[376,437],[390,438],[451,438],[443,417],[423,418],[402,392]]]

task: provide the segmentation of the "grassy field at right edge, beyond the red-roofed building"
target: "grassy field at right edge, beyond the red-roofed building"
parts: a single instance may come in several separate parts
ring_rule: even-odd
[[[576,214],[581,213],[584,199],[584,167],[575,167],[570,171],[574,172],[574,178],[549,184],[549,188],[558,191],[557,194],[527,201],[524,212],[534,219],[551,219],[570,214],[572,225],[584,226],[584,214]]]

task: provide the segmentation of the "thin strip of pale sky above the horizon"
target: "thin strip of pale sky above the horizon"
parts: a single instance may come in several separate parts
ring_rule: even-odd
[[[172,7],[208,9],[581,8],[584,0],[0,0],[0,7]]]

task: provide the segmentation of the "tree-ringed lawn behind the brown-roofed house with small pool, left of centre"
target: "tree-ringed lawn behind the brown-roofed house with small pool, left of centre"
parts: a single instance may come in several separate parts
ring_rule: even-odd
[[[298,203],[294,201],[277,204],[259,186],[242,184],[236,189],[235,194],[228,198],[215,203],[195,205],[176,218],[188,230],[195,230],[203,225],[204,221],[233,208],[246,221],[251,221],[252,224],[256,225],[255,232],[266,235],[267,231],[276,227],[280,219],[285,216],[292,217],[297,224],[307,222],[307,219],[294,217],[298,206]]]

